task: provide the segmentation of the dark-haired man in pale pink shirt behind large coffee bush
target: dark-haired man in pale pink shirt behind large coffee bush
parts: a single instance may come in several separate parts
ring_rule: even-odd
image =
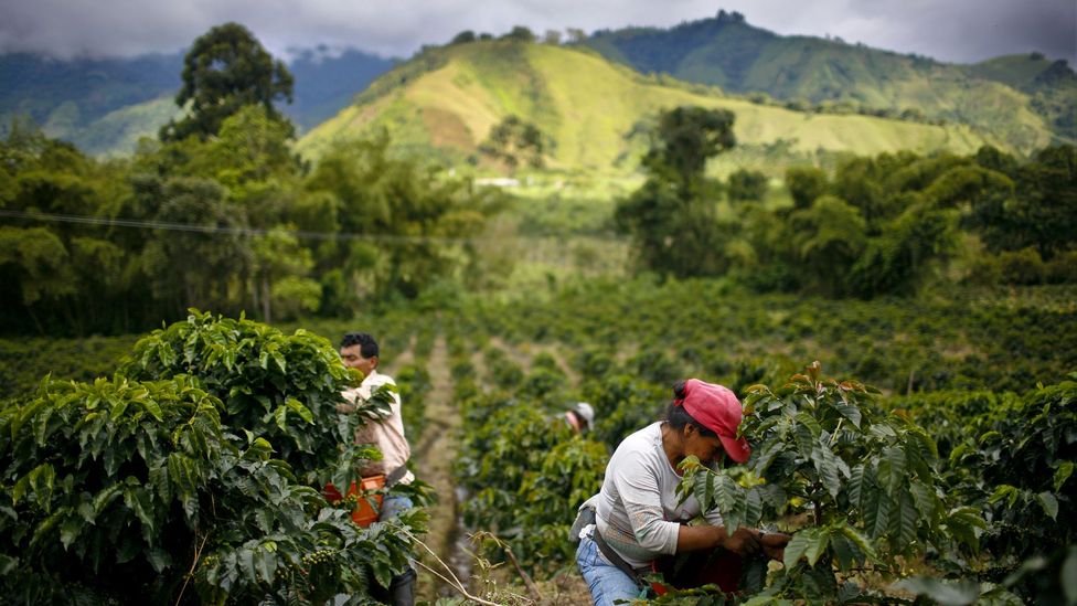
[[[392,376],[377,372],[378,364],[377,341],[365,332],[349,332],[340,342],[340,358],[344,365],[356,369],[364,374],[363,382],[343,393],[348,403],[337,405],[337,412],[349,414],[355,412],[359,400],[370,400],[371,394],[380,386],[396,385]],[[412,447],[404,437],[404,419],[401,416],[401,396],[393,393],[390,415],[378,422],[369,422],[355,432],[355,444],[373,444],[382,451],[381,460],[366,461],[359,469],[359,474],[366,478],[385,476],[385,485],[412,483],[415,476],[408,471],[407,461],[412,456]],[[410,499],[399,495],[386,495],[382,501],[378,521],[392,520],[403,511],[413,507]],[[412,606],[415,604],[415,570],[408,568],[393,577],[387,589],[373,591],[372,595],[380,602],[394,606]]]

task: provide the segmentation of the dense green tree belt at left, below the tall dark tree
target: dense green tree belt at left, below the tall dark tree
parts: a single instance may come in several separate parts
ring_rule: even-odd
[[[103,163],[11,131],[0,142],[2,330],[135,332],[192,306],[280,320],[471,279],[465,238],[491,199],[387,158],[384,139],[305,174],[288,132],[248,106],[204,141]]]

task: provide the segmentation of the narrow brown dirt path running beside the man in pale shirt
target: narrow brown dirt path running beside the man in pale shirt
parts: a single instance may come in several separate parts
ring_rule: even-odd
[[[450,562],[457,535],[458,503],[456,485],[452,481],[452,461],[456,460],[458,449],[460,412],[452,402],[448,350],[440,336],[430,351],[427,372],[430,375],[430,391],[426,395],[427,424],[423,435],[414,443],[412,459],[415,461],[418,478],[433,486],[434,493],[438,497],[438,502],[428,510],[430,530],[425,542],[442,562]],[[420,549],[420,552],[425,550]],[[422,553],[419,560],[440,570],[440,565],[428,553]],[[418,573],[417,599],[434,602],[438,595],[448,595],[448,588],[440,580],[425,570],[419,570]]]

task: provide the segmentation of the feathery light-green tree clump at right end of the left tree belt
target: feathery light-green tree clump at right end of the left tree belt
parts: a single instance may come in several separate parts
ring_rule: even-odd
[[[414,298],[451,275],[472,249],[490,212],[489,200],[437,169],[388,156],[388,137],[340,143],[306,181],[307,192],[330,196],[340,230],[363,237],[335,243],[316,259],[323,310],[352,309],[367,297]],[[460,242],[446,242],[459,238]],[[331,283],[331,284],[327,284]]]

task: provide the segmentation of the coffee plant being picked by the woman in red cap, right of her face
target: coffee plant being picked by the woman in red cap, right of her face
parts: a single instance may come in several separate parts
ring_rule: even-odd
[[[681,490],[721,511],[727,528],[802,521],[766,586],[757,574],[744,587],[757,598],[875,600],[883,596],[868,578],[903,578],[904,563],[929,552],[978,553],[988,528],[981,511],[941,490],[935,442],[878,413],[874,396],[812,364],[780,387],[748,390],[742,432],[754,451],[739,482],[687,461]]]

